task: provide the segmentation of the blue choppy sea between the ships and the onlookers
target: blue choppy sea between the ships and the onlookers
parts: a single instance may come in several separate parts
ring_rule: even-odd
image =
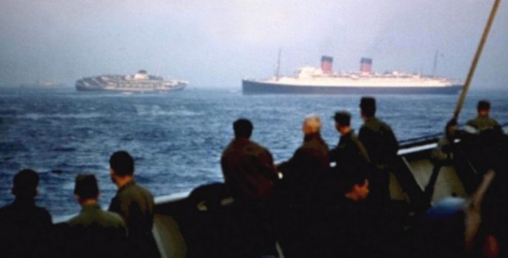
[[[508,91],[472,91],[461,119],[475,115],[479,99],[490,99],[492,116],[508,122]],[[40,173],[39,205],[54,216],[79,211],[73,197],[78,173],[94,173],[104,207],[116,189],[108,174],[109,156],[129,151],[136,180],[155,196],[185,193],[204,183],[223,181],[220,155],[232,138],[232,122],[250,119],[252,139],[267,146],[275,160],[292,156],[302,142],[303,117],[322,117],[322,134],[337,144],[332,115],[361,119],[360,95],[244,96],[241,91],[188,88],[171,94],[122,95],[66,90],[0,88],[0,206],[13,200],[13,175],[22,168]],[[378,117],[391,124],[399,140],[442,131],[458,95],[377,96]]]

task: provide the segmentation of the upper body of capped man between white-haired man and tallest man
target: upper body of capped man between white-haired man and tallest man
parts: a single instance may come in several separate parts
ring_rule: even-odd
[[[330,162],[335,162],[336,170],[345,173],[362,170],[368,173],[370,159],[365,147],[351,129],[351,115],[337,112],[334,116],[335,129],[340,133],[337,147],[330,152]]]

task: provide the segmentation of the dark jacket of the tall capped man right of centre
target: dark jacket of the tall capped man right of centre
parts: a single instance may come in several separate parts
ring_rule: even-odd
[[[375,117],[362,125],[358,138],[365,146],[372,164],[379,169],[386,168],[397,156],[399,144],[392,128]]]

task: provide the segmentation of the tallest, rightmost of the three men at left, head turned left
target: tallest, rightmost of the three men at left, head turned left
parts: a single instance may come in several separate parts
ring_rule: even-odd
[[[152,234],[153,196],[134,180],[134,159],[118,151],[109,159],[109,173],[118,191],[111,200],[109,211],[118,213],[127,227],[125,246],[132,257],[160,257]]]

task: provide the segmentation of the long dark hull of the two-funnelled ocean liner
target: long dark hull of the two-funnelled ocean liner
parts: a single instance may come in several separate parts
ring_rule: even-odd
[[[457,94],[462,85],[448,87],[293,86],[243,80],[243,94]]]

